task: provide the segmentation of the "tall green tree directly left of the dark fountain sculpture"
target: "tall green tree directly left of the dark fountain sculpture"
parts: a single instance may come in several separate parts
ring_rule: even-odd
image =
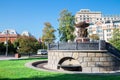
[[[68,12],[68,10],[65,9],[61,11],[60,18],[58,19],[58,21],[60,41],[73,41],[75,38],[73,34],[75,22],[74,16],[70,12]]]

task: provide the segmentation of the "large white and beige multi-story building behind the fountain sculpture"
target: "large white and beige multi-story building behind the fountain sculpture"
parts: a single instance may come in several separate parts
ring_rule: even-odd
[[[88,22],[89,35],[97,34],[100,40],[109,41],[112,37],[114,28],[120,28],[120,15],[103,16],[99,11],[90,11],[89,9],[81,9],[75,15],[75,22]]]

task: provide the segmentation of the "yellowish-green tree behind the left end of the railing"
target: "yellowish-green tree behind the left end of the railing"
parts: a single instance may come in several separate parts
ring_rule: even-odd
[[[47,43],[54,42],[55,39],[55,29],[52,27],[52,25],[49,22],[44,23],[45,27],[43,29],[43,35],[42,35],[42,41]]]

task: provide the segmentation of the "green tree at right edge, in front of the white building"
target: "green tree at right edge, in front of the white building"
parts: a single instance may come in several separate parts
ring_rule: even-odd
[[[109,42],[120,50],[120,29],[115,28],[113,30],[112,38],[109,40]]]

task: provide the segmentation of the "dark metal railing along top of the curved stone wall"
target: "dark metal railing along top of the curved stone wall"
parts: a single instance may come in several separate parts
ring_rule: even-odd
[[[106,50],[106,43],[103,40],[98,42],[83,42],[83,43],[50,43],[49,50]]]

